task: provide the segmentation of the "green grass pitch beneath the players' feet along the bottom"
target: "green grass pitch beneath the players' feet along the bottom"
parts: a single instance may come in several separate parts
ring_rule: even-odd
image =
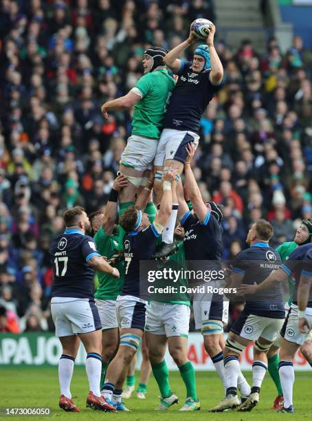
[[[75,402],[82,410],[81,413],[65,413],[58,407],[59,389],[58,389],[58,369],[45,367],[13,367],[0,369],[1,392],[0,407],[40,407],[51,408],[52,417],[30,417],[22,416],[22,419],[38,420],[56,418],[58,420],[120,420],[121,418],[131,421],[141,420],[170,420],[178,421],[186,418],[194,420],[281,420],[285,417],[291,420],[311,420],[312,419],[312,373],[300,372],[296,373],[296,383],[294,388],[294,402],[296,413],[282,414],[274,413],[270,408],[276,396],[276,389],[269,375],[265,377],[263,388],[261,390],[260,404],[250,413],[227,412],[227,413],[208,413],[208,409],[217,404],[222,398],[222,387],[219,378],[215,372],[198,372],[197,389],[201,400],[201,411],[193,413],[181,413],[181,408],[185,396],[183,382],[179,373],[170,373],[170,384],[172,390],[179,396],[179,404],[174,405],[166,412],[156,412],[155,408],[159,404],[159,391],[157,384],[151,375],[148,384],[148,393],[146,400],[139,400],[133,393],[133,398],[124,400],[126,406],[131,409],[130,413],[102,413],[93,411],[85,407],[85,398],[87,397],[88,383],[85,369],[79,367],[74,371],[74,377],[71,384],[71,393],[78,396]],[[246,374],[247,380],[250,382],[251,373]],[[16,419],[12,416],[0,416],[1,420]]]

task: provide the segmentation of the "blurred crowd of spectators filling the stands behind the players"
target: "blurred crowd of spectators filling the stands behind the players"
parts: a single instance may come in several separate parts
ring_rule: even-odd
[[[212,1],[1,0],[0,332],[53,330],[49,244],[63,211],[105,206],[131,114],[100,106],[142,76],[148,45],[172,48]],[[217,38],[223,87],[201,120],[194,174],[225,205],[223,257],[246,247],[250,222],[291,241],[312,217],[312,52],[300,37],[282,54]],[[192,48],[186,58],[192,59]]]

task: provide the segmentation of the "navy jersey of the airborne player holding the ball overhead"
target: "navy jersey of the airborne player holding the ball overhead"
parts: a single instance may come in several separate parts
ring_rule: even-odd
[[[172,91],[163,129],[199,131],[201,116],[221,87],[212,85],[210,72],[210,69],[192,72],[192,62],[181,60],[179,80]]]

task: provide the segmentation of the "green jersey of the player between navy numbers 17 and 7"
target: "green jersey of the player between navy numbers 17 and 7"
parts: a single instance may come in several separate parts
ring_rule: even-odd
[[[102,227],[94,236],[96,248],[102,256],[110,259],[118,246],[118,235],[106,235]],[[115,300],[122,290],[124,284],[124,260],[119,261],[115,266],[120,273],[120,278],[116,279],[108,273],[96,272],[98,275],[98,290],[94,295],[99,300]]]

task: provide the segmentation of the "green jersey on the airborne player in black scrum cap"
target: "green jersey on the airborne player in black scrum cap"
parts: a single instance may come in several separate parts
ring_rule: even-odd
[[[166,69],[159,69],[144,74],[135,87],[140,89],[143,98],[134,107],[132,134],[159,139],[175,80]]]

